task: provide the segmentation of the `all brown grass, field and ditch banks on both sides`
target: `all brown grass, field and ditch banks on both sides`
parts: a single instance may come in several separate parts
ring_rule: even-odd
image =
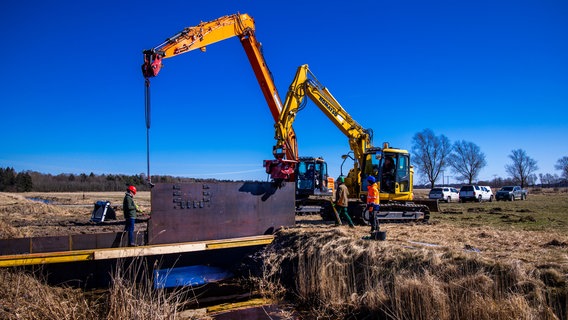
[[[267,297],[292,303],[306,319],[568,319],[568,192],[529,191],[526,201],[440,203],[429,223],[382,225],[386,241],[363,240],[368,226],[334,227],[319,216],[298,216],[296,226],[282,229],[259,254],[263,272],[254,281]],[[0,193],[0,238],[106,232],[85,224],[93,203],[120,205],[122,197],[122,192]],[[149,193],[136,200],[150,208]],[[109,303],[92,301],[86,292],[47,287],[7,270],[0,270],[0,279],[0,318],[122,318],[117,310],[111,317],[101,306]],[[27,300],[43,291],[73,305],[76,313],[61,307],[28,314]],[[136,303],[163,302],[169,316],[139,319],[181,319],[172,316],[176,306],[170,298],[142,296]]]

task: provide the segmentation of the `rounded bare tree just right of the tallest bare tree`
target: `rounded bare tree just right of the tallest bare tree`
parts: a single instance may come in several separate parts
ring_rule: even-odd
[[[448,164],[460,180],[467,180],[469,184],[477,179],[479,171],[487,165],[485,154],[473,142],[464,140],[454,143],[453,151],[448,157]]]

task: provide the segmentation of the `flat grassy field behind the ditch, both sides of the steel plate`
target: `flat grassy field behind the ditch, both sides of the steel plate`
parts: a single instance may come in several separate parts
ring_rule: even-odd
[[[417,197],[426,194],[427,190],[416,192]],[[121,231],[123,196],[122,192],[0,193],[0,238]],[[111,202],[116,221],[89,222],[99,200]],[[139,192],[135,200],[147,212],[140,216],[140,229],[149,218],[150,193]],[[566,190],[534,190],[526,201],[440,203],[440,210],[432,213],[428,224],[385,224],[381,229],[387,231],[391,245],[468,250],[497,259],[555,263],[568,273]],[[298,216],[293,229],[308,232],[320,228],[334,227],[319,216]],[[350,233],[360,239],[369,229],[358,226]]]

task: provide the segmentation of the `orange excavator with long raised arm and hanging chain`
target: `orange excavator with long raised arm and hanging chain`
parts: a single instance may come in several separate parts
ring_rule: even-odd
[[[232,37],[238,37],[240,40],[274,122],[278,122],[282,111],[282,101],[262,54],[261,43],[256,38],[254,19],[246,13],[237,13],[223,16],[212,21],[201,22],[193,27],[187,27],[166,39],[158,46],[143,51],[144,63],[142,64],[142,73],[146,79],[147,129],[149,129],[150,126],[150,78],[158,75],[162,68],[163,59],[176,57],[196,49],[205,51],[208,45]],[[333,179],[328,176],[327,163],[321,158],[299,157],[296,135],[291,126],[287,128],[286,138],[281,142],[282,149],[286,151],[279,156],[279,161],[272,162],[268,160],[265,163],[265,168],[269,170],[267,172],[271,174],[271,177],[275,178],[279,183],[300,179],[297,184],[299,188],[296,190],[300,198],[314,194],[331,195]],[[149,162],[148,156],[148,177],[150,177]],[[269,165],[268,163],[273,165]],[[298,210],[312,212],[315,210],[315,207],[299,206]]]

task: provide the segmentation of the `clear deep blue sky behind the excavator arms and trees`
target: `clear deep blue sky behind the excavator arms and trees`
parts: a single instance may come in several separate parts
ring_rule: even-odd
[[[519,148],[537,173],[560,173],[565,0],[10,1],[0,11],[0,167],[146,173],[142,50],[237,12],[255,19],[282,99],[308,64],[375,145],[410,149],[430,128],[481,148],[480,179],[505,177]],[[266,179],[273,120],[237,38],[164,64],[152,79],[151,174]],[[323,156],[337,177],[346,137],[311,102],[295,129],[300,153]]]

